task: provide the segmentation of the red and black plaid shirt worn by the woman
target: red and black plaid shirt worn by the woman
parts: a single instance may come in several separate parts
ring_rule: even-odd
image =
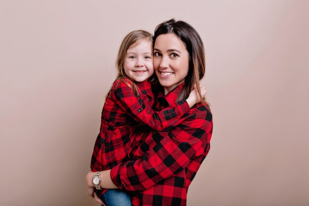
[[[156,108],[175,105],[181,90],[179,85],[159,97]],[[168,131],[152,131],[136,138],[140,141],[133,144],[139,146],[129,154],[135,161],[113,167],[113,182],[120,189],[137,191],[133,206],[186,206],[189,185],[208,154],[212,128],[209,108],[195,104]]]

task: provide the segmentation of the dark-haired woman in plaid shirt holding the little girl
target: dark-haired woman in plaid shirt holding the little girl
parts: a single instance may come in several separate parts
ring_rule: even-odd
[[[156,27],[154,70],[162,86],[157,110],[186,99],[194,85],[199,90],[205,73],[204,46],[191,25],[171,19]],[[189,185],[209,151],[211,135],[210,110],[206,103],[197,103],[168,131],[136,134],[131,161],[102,171],[100,186],[136,191],[133,206],[185,206]],[[96,195],[93,176],[91,171],[86,176],[90,196]]]

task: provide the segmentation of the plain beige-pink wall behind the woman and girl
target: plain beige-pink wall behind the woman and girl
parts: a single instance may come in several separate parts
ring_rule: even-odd
[[[118,46],[171,17],[204,41],[214,117],[188,205],[308,205],[308,11],[308,0],[1,1],[0,205],[97,205],[83,181]]]

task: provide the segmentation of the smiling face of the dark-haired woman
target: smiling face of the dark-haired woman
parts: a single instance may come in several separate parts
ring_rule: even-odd
[[[159,35],[154,42],[154,70],[167,94],[184,81],[189,71],[189,52],[174,33]]]

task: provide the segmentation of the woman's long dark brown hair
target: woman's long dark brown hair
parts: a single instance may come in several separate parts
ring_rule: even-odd
[[[198,93],[202,98],[199,81],[205,74],[205,52],[200,36],[190,24],[184,21],[170,19],[156,26],[154,30],[154,43],[159,35],[168,33],[174,33],[181,41],[183,41],[190,55],[189,72],[185,77],[184,87],[178,96],[177,101],[187,99],[194,85],[196,85]],[[202,101],[203,103],[206,103],[204,98],[202,98]]]

